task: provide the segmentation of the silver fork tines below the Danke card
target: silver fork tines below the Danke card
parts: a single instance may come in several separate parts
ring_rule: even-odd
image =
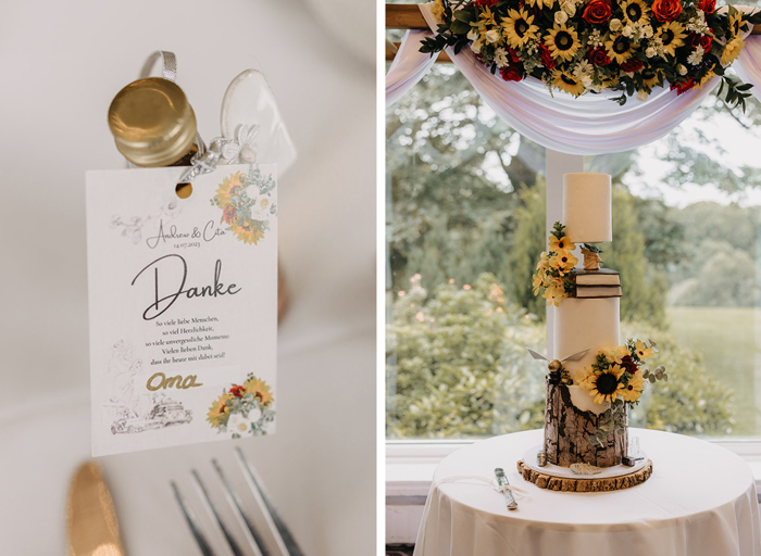
[[[264,516],[264,521],[266,522],[267,529],[270,530],[275,540],[275,544],[277,545],[278,552],[283,556],[303,556],[303,553],[296,543],[296,540],[294,539],[294,535],[291,534],[290,530],[279,517],[277,510],[272,504],[272,501],[264,489],[263,482],[253,465],[251,465],[251,463],[248,459],[246,459],[239,447],[236,447],[235,456],[238,463],[238,467],[242,471],[246,484],[251,490],[251,493],[253,494],[253,497],[257,504],[259,505],[262,515]],[[270,552],[264,546],[262,535],[253,525],[253,521],[249,513],[247,511],[242,501],[230,486],[230,483],[227,480],[225,472],[222,470],[222,467],[220,466],[219,462],[216,459],[212,459],[212,466],[214,468],[220,483],[222,484],[225,498],[227,500],[227,503],[229,504],[233,514],[239,522],[246,536],[246,540],[251,549],[253,551],[254,555],[270,556]],[[230,529],[227,527],[227,525],[225,525],[220,511],[217,510],[211,497],[209,496],[209,491],[207,490],[205,484],[201,480],[201,477],[199,476],[198,471],[191,469],[190,473],[191,481],[196,486],[196,490],[201,498],[201,503],[204,509],[209,514],[212,521],[214,521],[220,527],[220,530],[222,531],[222,534],[228,547],[230,548],[230,552],[234,554],[234,556],[242,556],[244,552],[241,551],[237,541],[232,535]],[[177,500],[179,508],[183,515],[185,516],[185,520],[187,521],[188,527],[190,528],[190,532],[192,533],[192,536],[196,540],[196,543],[198,544],[201,554],[203,556],[216,556],[211,547],[208,536],[203,533],[200,521],[194,513],[192,508],[187,503],[183,494],[179,492],[179,489],[177,488],[176,483],[174,483],[174,481],[171,482],[171,485],[172,490],[174,491],[175,498]]]

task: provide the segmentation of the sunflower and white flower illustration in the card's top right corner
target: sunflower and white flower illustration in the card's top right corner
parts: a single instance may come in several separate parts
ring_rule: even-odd
[[[236,172],[222,180],[212,205],[222,208],[221,223],[244,243],[255,245],[270,229],[270,217],[277,214],[272,202],[276,181],[249,166],[248,174]]]

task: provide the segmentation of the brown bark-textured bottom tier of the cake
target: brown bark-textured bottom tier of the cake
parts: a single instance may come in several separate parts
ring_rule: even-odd
[[[571,403],[567,387],[547,382],[545,405],[545,451],[547,462],[562,467],[571,464],[591,464],[612,467],[621,464],[628,448],[628,430],[608,434],[604,446],[592,445],[589,435],[595,434],[600,416],[582,412]]]

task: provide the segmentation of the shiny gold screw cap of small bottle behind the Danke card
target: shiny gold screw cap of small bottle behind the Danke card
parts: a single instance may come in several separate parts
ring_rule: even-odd
[[[138,166],[170,166],[196,139],[196,114],[183,89],[162,77],[130,83],[109,106],[116,149]]]

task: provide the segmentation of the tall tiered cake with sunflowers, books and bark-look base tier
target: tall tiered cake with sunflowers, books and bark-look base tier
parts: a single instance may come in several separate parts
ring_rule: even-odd
[[[625,468],[619,475],[631,472],[622,466],[632,464],[626,408],[639,403],[646,382],[668,380],[662,366],[648,368],[658,352],[652,340],[620,343],[622,285],[619,273],[600,268],[602,250],[595,245],[613,239],[611,200],[609,175],[565,174],[562,224],[554,224],[533,277],[534,293],[554,305],[540,447],[540,459],[549,464],[542,472],[550,475],[553,468],[565,468],[562,476],[567,468],[616,466]]]

